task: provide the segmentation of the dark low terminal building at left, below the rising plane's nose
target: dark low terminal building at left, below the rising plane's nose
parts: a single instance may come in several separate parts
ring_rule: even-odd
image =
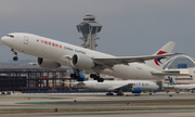
[[[0,66],[0,91],[67,90],[72,68],[44,69],[37,65]]]

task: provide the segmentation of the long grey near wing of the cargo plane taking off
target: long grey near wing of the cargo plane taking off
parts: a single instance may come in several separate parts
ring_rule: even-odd
[[[117,65],[117,64],[129,65],[129,63],[133,63],[133,62],[144,63],[145,61],[148,61],[148,60],[171,56],[171,55],[177,55],[177,54],[183,54],[183,53],[166,53],[166,54],[160,54],[160,55],[125,56],[125,57],[110,57],[110,58],[93,58],[93,61],[98,65],[101,65],[102,68],[112,68],[114,65]]]

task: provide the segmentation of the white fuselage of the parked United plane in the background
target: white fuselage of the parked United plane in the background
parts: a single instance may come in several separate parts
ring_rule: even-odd
[[[74,86],[77,86],[79,88],[84,88],[89,90],[95,90],[95,91],[115,91],[117,88],[127,86],[129,83],[133,84],[133,88],[141,88],[142,91],[153,91],[157,90],[159,87],[152,81],[143,81],[143,80],[120,80],[120,81],[107,81],[104,82],[98,82],[95,80],[93,81],[83,81],[83,82],[75,82]],[[132,91],[132,89],[129,89],[129,91]]]

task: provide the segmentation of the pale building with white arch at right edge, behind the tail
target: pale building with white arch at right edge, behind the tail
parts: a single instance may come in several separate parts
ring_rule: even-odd
[[[165,73],[178,73],[183,76],[170,76],[176,84],[195,83],[195,60],[187,55],[178,55],[168,60],[164,66]],[[169,83],[169,79],[165,79]]]

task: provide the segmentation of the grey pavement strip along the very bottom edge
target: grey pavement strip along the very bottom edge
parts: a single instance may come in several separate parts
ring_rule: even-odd
[[[41,113],[1,114],[1,117],[194,117],[194,110],[138,110],[138,112],[83,112],[83,113]]]

